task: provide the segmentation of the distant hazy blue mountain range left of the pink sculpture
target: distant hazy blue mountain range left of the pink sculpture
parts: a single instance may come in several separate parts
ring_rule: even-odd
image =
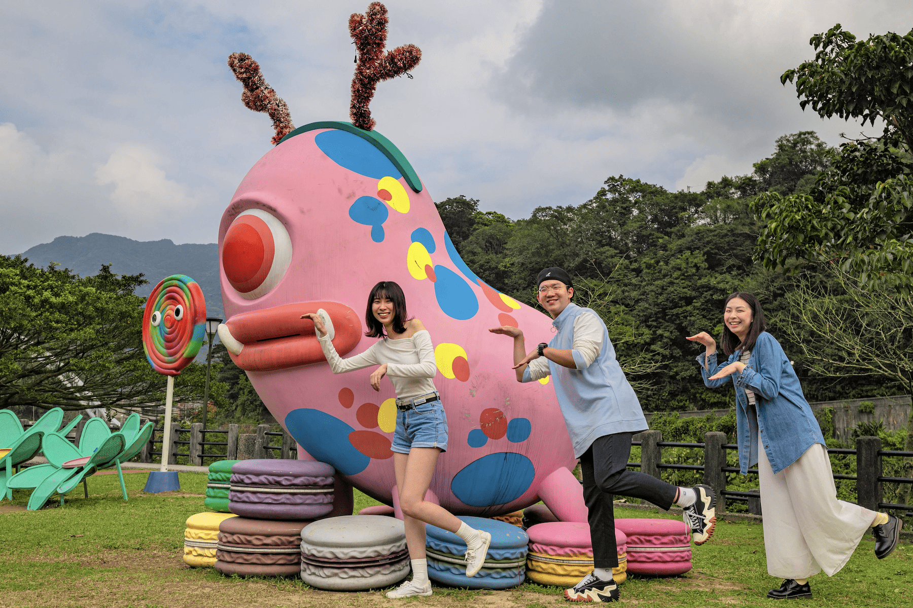
[[[97,274],[101,264],[106,263],[110,263],[112,273],[142,273],[149,281],[135,291],[142,297],[151,294],[152,288],[166,276],[186,274],[203,290],[206,315],[225,317],[215,242],[175,245],[170,239],[133,241],[123,236],[92,232],[86,236],[58,236],[52,242],[23,252],[22,257],[41,267],[59,263],[81,276]]]

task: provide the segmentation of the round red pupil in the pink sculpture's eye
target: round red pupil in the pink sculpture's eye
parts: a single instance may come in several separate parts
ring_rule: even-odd
[[[228,283],[242,294],[257,289],[267,278],[275,251],[267,222],[254,215],[238,218],[226,232],[222,246],[222,267]]]

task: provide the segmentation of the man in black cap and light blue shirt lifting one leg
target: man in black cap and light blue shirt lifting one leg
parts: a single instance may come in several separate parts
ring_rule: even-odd
[[[677,488],[627,469],[631,436],[648,427],[634,389],[615,359],[605,324],[593,310],[571,302],[571,276],[561,268],[544,269],[536,282],[539,304],[551,314],[551,325],[557,330],[551,342],[527,354],[518,327],[489,331],[514,339],[518,382],[551,375],[574,457],[580,459],[594,569],[565,590],[564,597],[572,602],[614,602],[619,593],[612,579],[612,568],[618,565],[613,495],[649,500],[666,510],[677,504],[698,545],[713,534],[716,497],[708,486]]]

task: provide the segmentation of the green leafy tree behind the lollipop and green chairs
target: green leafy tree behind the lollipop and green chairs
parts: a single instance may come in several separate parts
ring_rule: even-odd
[[[142,274],[103,265],[80,277],[0,255],[0,407],[158,407],[165,382],[142,350]],[[202,394],[205,366],[175,378],[175,400]],[[210,394],[221,398],[222,388]]]

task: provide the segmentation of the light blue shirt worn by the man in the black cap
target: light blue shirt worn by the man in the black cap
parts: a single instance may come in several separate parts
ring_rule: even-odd
[[[587,357],[575,348],[574,343],[574,320],[581,314],[592,314],[603,330],[602,347],[589,365]],[[580,458],[597,438],[646,430],[648,427],[640,401],[615,359],[615,349],[602,318],[589,308],[571,303],[551,325],[558,331],[549,346],[571,350],[576,364],[576,369],[571,369],[554,361],[548,362],[558,405],[571,435],[574,458]],[[523,382],[536,379],[538,377],[530,374],[530,366],[527,366],[523,371]]]

